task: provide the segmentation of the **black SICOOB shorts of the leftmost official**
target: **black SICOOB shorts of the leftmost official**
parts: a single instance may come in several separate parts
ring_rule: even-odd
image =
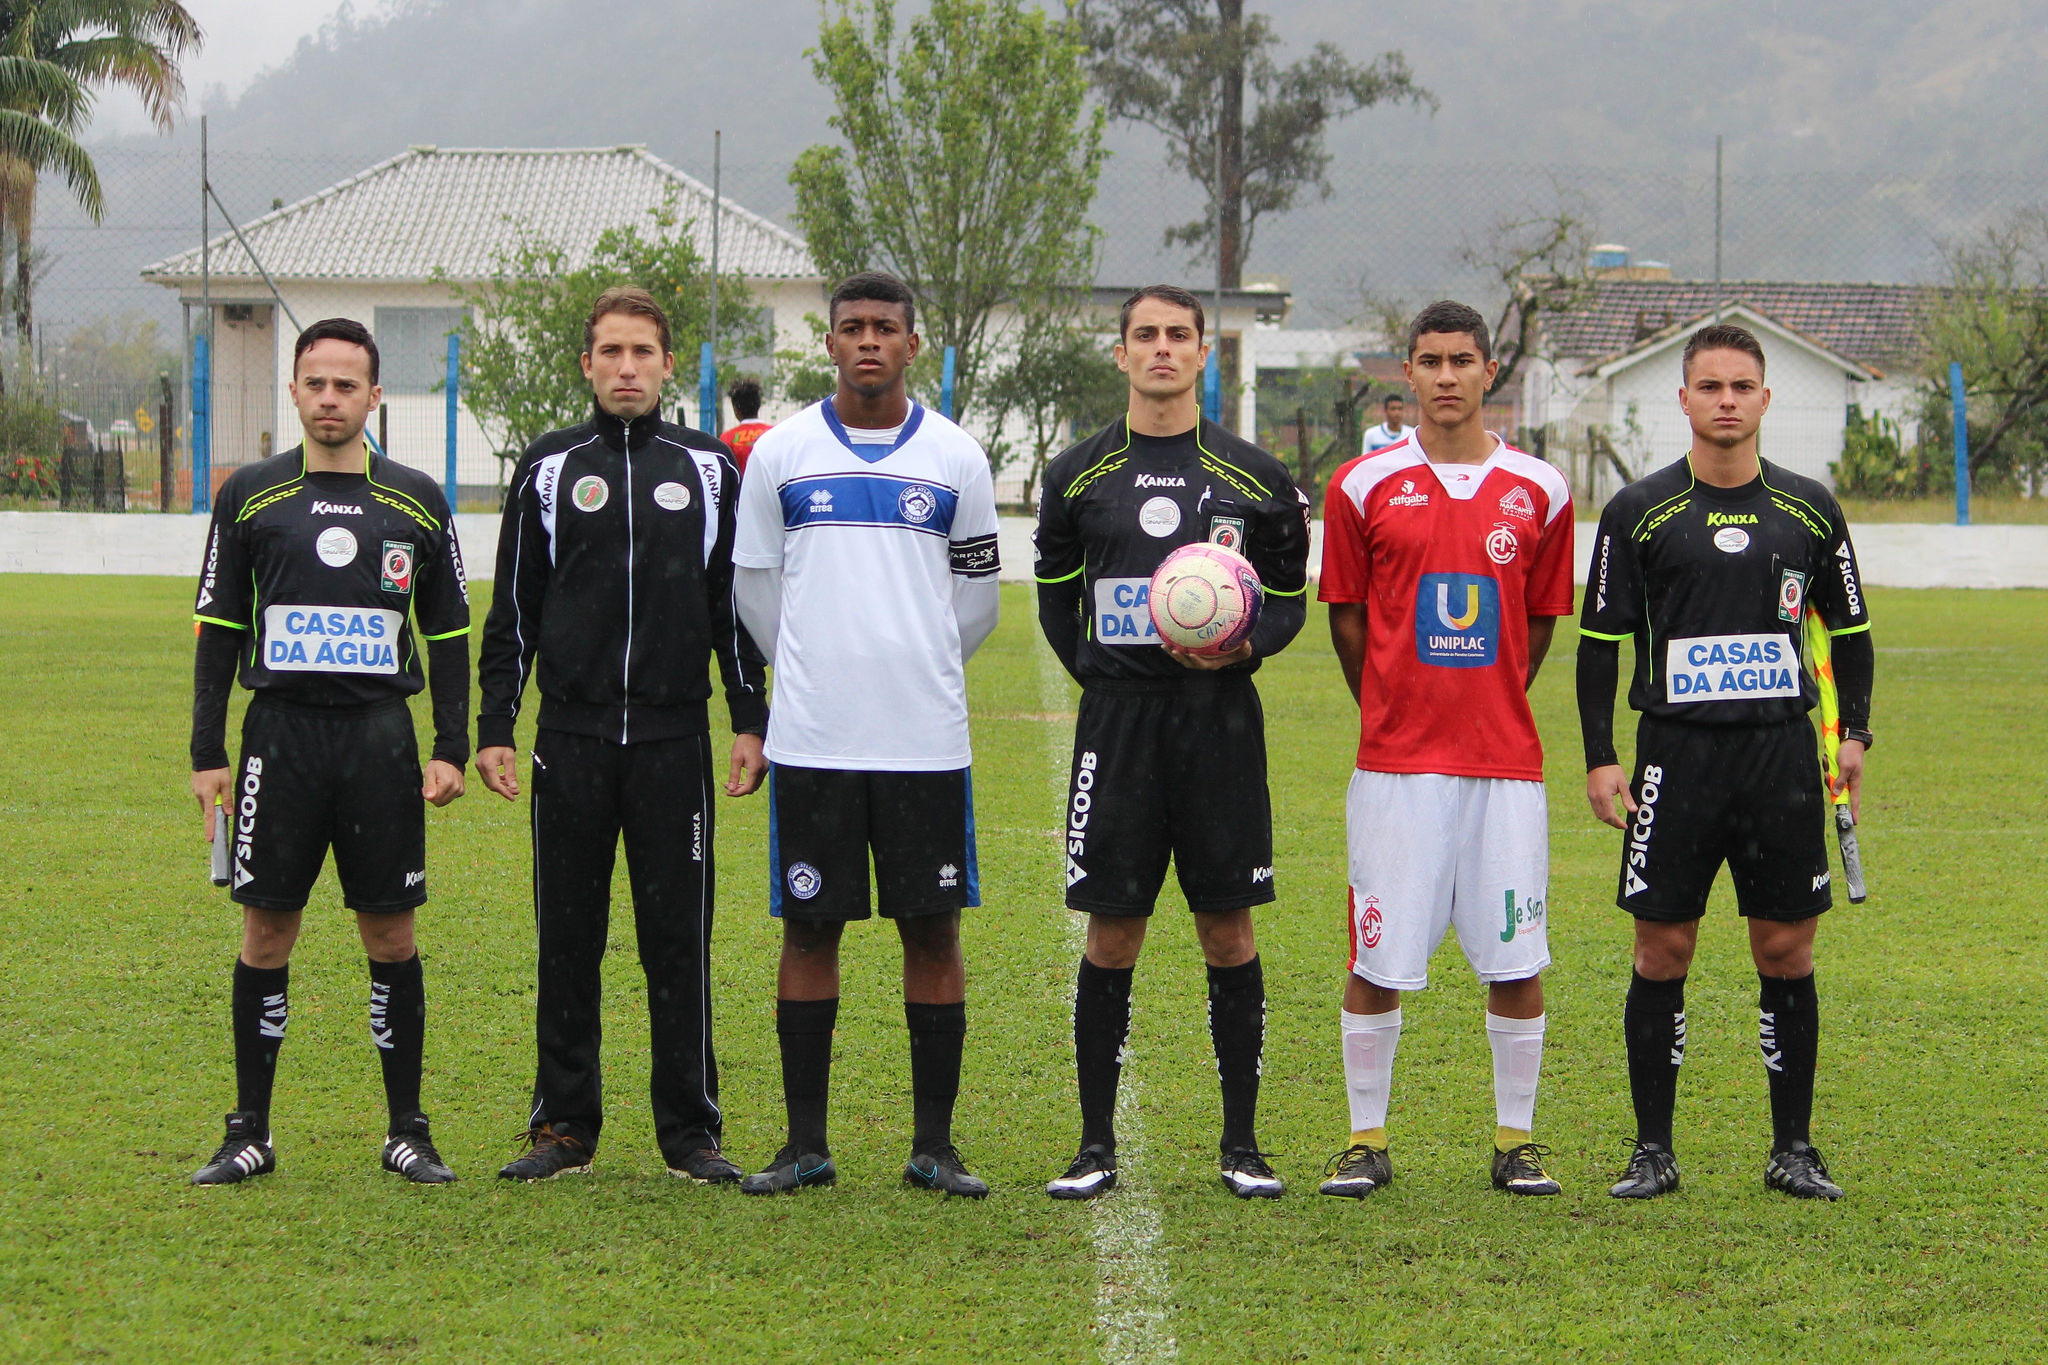
[[[254,700],[242,720],[229,896],[303,911],[334,847],[352,911],[426,900],[426,800],[406,702],[332,712]]]

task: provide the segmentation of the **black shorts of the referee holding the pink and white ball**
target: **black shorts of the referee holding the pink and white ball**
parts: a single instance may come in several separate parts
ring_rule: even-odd
[[[1067,778],[1067,909],[1151,915],[1167,857],[1190,911],[1274,898],[1266,712],[1249,677],[1081,692]]]

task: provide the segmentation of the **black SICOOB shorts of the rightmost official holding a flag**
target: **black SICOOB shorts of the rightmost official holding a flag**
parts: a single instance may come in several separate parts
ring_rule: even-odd
[[[1827,870],[1827,794],[1812,724],[1636,726],[1638,810],[1622,839],[1616,905],[1679,923],[1706,913],[1720,864],[1737,909],[1810,919],[1835,905]]]

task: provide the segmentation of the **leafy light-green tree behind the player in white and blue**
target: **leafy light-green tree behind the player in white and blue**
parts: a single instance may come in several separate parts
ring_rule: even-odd
[[[795,219],[829,276],[883,268],[918,295],[932,354],[958,348],[954,413],[1004,346],[997,311],[1044,315],[1094,276],[1102,172],[1081,33],[1018,0],[836,0],[811,51],[844,147],[797,158]],[[1012,342],[1014,344],[1014,342]]]

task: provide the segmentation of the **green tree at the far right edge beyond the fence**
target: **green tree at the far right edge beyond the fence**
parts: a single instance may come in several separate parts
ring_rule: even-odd
[[[1946,432],[1948,366],[1962,362],[1970,477],[2038,483],[2048,473],[2048,211],[2021,209],[1946,252],[1925,311],[1925,405]]]

